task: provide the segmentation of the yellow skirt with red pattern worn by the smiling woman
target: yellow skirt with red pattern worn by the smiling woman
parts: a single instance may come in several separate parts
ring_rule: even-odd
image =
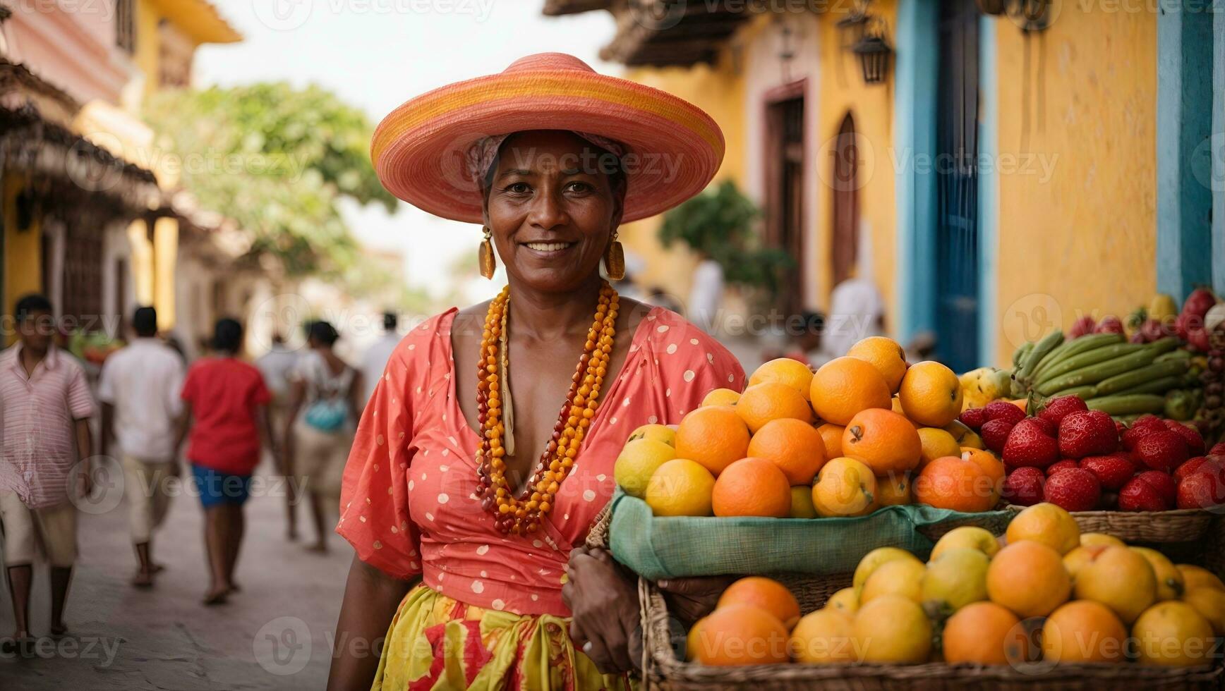
[[[371,691],[628,690],[570,640],[570,620],[464,604],[424,585],[399,603]]]

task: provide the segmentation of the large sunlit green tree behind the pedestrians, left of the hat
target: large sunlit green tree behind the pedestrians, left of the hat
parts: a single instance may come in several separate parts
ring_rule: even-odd
[[[326,89],[163,92],[145,115],[159,147],[181,161],[181,185],[251,232],[251,251],[277,256],[290,274],[342,278],[360,267],[341,197],[396,210],[370,164],[370,122]]]

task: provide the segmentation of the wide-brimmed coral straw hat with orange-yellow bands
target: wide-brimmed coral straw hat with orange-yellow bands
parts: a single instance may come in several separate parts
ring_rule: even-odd
[[[526,130],[588,132],[625,144],[625,221],[697,194],[723,161],[723,131],[702,109],[599,75],[565,53],[528,55],[497,75],[408,100],[379,124],[370,158],[392,194],[431,214],[479,224],[480,181],[468,170],[468,149],[485,137]]]

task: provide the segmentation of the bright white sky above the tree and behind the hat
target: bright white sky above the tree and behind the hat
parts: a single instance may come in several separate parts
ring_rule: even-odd
[[[431,88],[500,72],[523,55],[573,54],[597,71],[619,66],[597,54],[614,32],[603,11],[545,17],[543,0],[213,0],[245,40],[196,53],[197,87],[260,81],[320,84],[363,109],[371,124]],[[477,226],[431,216],[407,203],[396,215],[347,204],[344,215],[371,247],[399,249],[408,283],[434,295],[447,269],[477,252]],[[480,289],[478,289],[480,290]],[[486,291],[491,295],[492,287]],[[473,295],[475,300],[478,296]]]

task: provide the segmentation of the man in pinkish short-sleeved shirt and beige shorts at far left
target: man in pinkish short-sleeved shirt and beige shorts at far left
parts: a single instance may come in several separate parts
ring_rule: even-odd
[[[67,632],[64,603],[77,555],[74,500],[92,489],[89,417],[94,405],[85,369],[54,345],[50,301],[27,295],[17,301],[13,317],[17,344],[0,353],[5,456],[0,462],[13,466],[11,472],[0,473],[0,520],[16,619],[13,640],[4,647],[31,654],[36,547],[42,547],[50,564],[51,636]]]

